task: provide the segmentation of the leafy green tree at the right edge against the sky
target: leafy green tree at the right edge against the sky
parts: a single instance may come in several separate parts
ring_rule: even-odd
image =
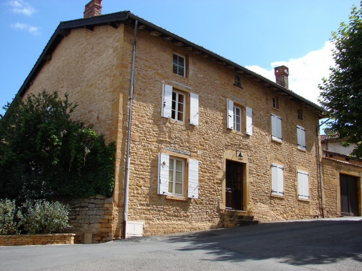
[[[346,138],[345,147],[357,144],[351,155],[362,157],[362,1],[360,8],[352,7],[349,20],[332,33],[336,66],[319,85],[319,102],[330,112],[330,134]]]

